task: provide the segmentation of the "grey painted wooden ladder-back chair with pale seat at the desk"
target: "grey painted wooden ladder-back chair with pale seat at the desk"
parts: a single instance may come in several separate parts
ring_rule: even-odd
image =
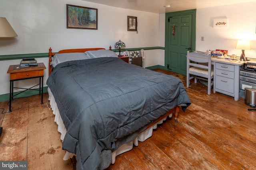
[[[195,83],[197,83],[197,79],[206,80],[208,82],[207,94],[211,94],[211,86],[213,85],[211,54],[187,52],[187,87],[189,87],[190,80],[193,78]]]

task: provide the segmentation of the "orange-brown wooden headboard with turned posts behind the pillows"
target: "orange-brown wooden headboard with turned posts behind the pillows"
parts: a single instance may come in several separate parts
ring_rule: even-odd
[[[86,51],[93,51],[93,50],[102,50],[104,48],[88,48],[88,49],[64,49],[60,50],[58,53],[84,53]],[[109,47],[109,50],[111,50],[111,46]],[[52,62],[52,57],[55,55],[55,53],[52,53],[52,49],[50,47],[49,49],[49,75],[52,73],[52,66],[50,63]]]

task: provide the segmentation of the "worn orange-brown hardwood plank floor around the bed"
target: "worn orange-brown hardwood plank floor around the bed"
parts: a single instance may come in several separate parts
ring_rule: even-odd
[[[161,69],[186,84],[186,76]],[[191,82],[186,88],[192,104],[181,110],[178,123],[168,118],[153,136],[116,157],[107,170],[239,170],[256,169],[256,111],[244,99],[234,101],[220,93],[207,95],[207,87]],[[49,104],[48,104],[49,105]],[[8,111],[8,102],[0,107]],[[40,95],[18,98],[12,112],[0,114],[0,160],[28,160],[28,169],[72,170],[62,160],[60,133],[54,115]]]

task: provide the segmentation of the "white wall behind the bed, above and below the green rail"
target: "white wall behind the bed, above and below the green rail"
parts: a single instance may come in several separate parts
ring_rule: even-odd
[[[98,9],[98,30],[67,29],[66,4]],[[127,31],[127,16],[138,17],[138,34]],[[48,53],[61,49],[103,47],[114,49],[121,39],[126,48],[159,46],[159,14],[126,10],[82,0],[0,0],[0,17],[10,22],[18,37],[0,39],[0,55]],[[158,64],[158,50],[146,51],[146,67]],[[1,57],[1,56],[0,56]],[[48,67],[48,59],[40,58]],[[9,93],[9,65],[20,60],[0,61],[0,95]],[[48,69],[48,68],[47,68]],[[44,86],[48,70],[44,71]],[[15,82],[30,86],[33,81]],[[31,82],[31,83],[30,83]]]

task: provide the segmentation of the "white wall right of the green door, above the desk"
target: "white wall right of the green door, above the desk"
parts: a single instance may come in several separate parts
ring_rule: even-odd
[[[228,55],[240,56],[237,40],[250,40],[252,49],[245,50],[245,55],[256,58],[256,2],[201,8],[196,16],[196,50],[225,49]],[[218,18],[228,18],[228,27],[213,27],[213,19]]]

